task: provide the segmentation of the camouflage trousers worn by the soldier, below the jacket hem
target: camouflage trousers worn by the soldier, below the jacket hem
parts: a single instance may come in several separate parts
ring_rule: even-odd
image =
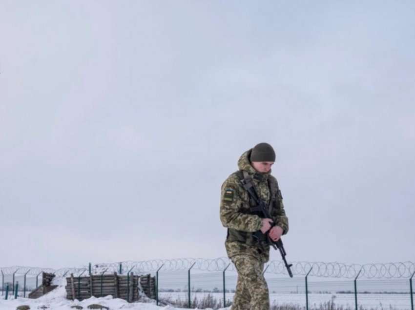
[[[232,262],[238,271],[231,310],[270,310],[268,285],[262,274],[264,263],[251,255],[236,255]]]

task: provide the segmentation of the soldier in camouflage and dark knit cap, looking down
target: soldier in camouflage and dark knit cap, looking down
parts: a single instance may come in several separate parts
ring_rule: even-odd
[[[225,242],[228,257],[238,272],[232,310],[269,310],[270,296],[262,274],[269,261],[270,239],[277,241],[288,232],[288,218],[284,211],[278,182],[271,175],[275,152],[268,143],[259,143],[238,160],[239,171],[230,174],[222,185],[220,218],[228,228]],[[259,198],[269,206],[271,218],[261,218],[255,202],[243,187],[242,180],[254,186]],[[275,226],[271,228],[271,223]],[[271,228],[271,229],[270,229]],[[253,232],[261,231],[261,238]]]

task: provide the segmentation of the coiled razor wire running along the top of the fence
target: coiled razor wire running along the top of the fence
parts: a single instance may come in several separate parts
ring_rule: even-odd
[[[127,273],[129,271],[135,274],[154,273],[157,270],[163,271],[187,271],[190,268],[195,271],[235,271],[235,266],[227,257],[214,259],[205,258],[176,258],[176,259],[156,259],[146,261],[125,261],[119,263],[99,263],[91,266],[93,274],[113,273],[120,271]],[[267,273],[287,274],[287,270],[282,261],[270,261],[266,265]],[[83,268],[39,268],[11,266],[2,267],[0,270],[3,274],[36,276],[42,272],[54,273],[57,276],[69,276],[73,273],[75,276],[88,270],[88,266]],[[415,272],[414,262],[396,262],[396,263],[371,263],[371,264],[344,264],[339,262],[293,262],[291,267],[292,273],[296,276],[304,276],[310,271],[310,276],[326,278],[359,278],[367,279],[397,279],[409,278]]]

